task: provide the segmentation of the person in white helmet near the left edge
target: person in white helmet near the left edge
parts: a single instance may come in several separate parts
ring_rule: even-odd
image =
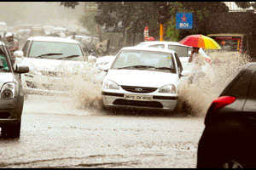
[[[11,62],[15,64],[15,51],[19,50],[19,42],[14,38],[13,34],[8,32],[5,35],[6,37],[6,46],[10,51],[11,54]]]

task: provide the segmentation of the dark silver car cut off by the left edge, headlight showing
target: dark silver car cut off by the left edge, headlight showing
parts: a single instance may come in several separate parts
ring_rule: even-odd
[[[20,138],[24,94],[20,74],[28,65],[11,65],[9,50],[0,42],[0,127],[2,137]]]

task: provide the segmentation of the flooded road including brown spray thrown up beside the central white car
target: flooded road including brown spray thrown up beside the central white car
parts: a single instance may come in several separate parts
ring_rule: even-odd
[[[104,111],[93,83],[73,81],[72,97],[30,94],[20,139],[0,138],[0,167],[195,168],[207,108],[246,63],[234,54],[220,59],[200,82],[183,84],[172,114]]]

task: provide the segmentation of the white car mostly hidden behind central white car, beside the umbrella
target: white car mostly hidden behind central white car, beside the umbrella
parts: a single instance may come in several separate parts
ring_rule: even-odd
[[[180,61],[183,64],[183,69],[185,71],[191,71],[191,63],[189,63],[189,56],[192,51],[192,47],[182,45],[179,42],[166,42],[166,41],[149,41],[149,42],[140,42],[137,44],[137,46],[146,46],[151,48],[165,48],[165,49],[171,49],[174,50]],[[206,52],[200,48],[199,53],[202,54],[206,59],[210,59]]]

